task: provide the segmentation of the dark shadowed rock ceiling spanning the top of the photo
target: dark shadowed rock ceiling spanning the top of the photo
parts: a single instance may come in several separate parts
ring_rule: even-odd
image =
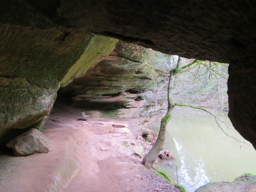
[[[0,22],[38,29],[78,28],[186,58],[228,63],[254,56],[254,6],[250,0],[10,0],[0,4]]]

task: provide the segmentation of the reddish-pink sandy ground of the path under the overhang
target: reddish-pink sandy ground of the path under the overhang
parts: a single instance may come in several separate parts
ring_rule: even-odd
[[[42,131],[51,141],[50,152],[16,157],[0,154],[0,192],[153,192],[177,191],[160,176],[145,169],[133,154],[132,134],[114,134],[110,125],[128,123],[102,118],[97,111],[88,122],[82,110],[55,109]],[[134,120],[136,121],[136,120]],[[93,122],[93,123],[91,123]]]

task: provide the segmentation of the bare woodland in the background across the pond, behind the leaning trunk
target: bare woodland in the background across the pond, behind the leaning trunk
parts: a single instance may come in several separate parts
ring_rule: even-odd
[[[166,109],[169,72],[177,63],[178,56],[150,49],[143,54],[150,62],[142,62],[140,70],[153,80],[153,85],[149,86],[153,94],[145,92],[144,98],[156,106],[155,111]],[[210,110],[228,111],[228,64],[183,58],[182,66],[190,62],[195,64],[176,75],[174,101]]]

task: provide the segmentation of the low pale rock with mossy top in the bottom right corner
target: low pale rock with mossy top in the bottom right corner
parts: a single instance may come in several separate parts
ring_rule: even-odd
[[[244,174],[233,182],[208,183],[195,192],[254,192],[256,189],[256,176]]]

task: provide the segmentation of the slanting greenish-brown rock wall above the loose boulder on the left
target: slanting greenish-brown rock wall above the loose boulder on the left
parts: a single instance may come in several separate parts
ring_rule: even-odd
[[[5,44],[0,48],[0,142],[14,134],[10,129],[42,127],[59,87],[99,62],[117,42],[77,30],[8,24],[0,27],[0,39]]]

